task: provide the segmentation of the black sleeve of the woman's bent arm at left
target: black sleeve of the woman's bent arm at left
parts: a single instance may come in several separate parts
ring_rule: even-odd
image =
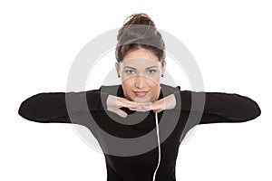
[[[81,119],[72,121],[69,115],[80,111],[104,110],[107,97],[108,94],[100,90],[38,93],[21,103],[18,114],[35,122],[83,124]]]

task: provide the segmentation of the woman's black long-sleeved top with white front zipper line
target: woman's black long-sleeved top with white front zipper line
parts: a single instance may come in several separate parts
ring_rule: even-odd
[[[173,93],[177,105],[173,110],[158,113],[161,150],[158,181],[176,180],[180,142],[192,127],[244,122],[261,113],[254,100],[238,94],[180,90],[180,86],[164,84],[160,87],[160,99]],[[121,85],[81,92],[39,93],[24,100],[18,113],[35,122],[75,123],[90,129],[104,152],[108,181],[151,181],[159,159],[155,113],[121,108],[128,113],[123,119],[105,109],[109,94],[124,98]],[[143,137],[148,134],[148,138]]]

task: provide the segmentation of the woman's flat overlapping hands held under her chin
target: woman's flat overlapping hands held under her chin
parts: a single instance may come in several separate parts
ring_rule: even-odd
[[[127,113],[121,110],[121,107],[126,107],[130,110],[137,111],[148,111],[153,110],[154,112],[160,112],[162,110],[172,110],[176,107],[176,99],[174,94],[156,100],[153,102],[136,102],[131,100],[126,100],[125,98],[116,97],[109,95],[107,98],[107,110],[112,111],[122,118],[127,117]]]

